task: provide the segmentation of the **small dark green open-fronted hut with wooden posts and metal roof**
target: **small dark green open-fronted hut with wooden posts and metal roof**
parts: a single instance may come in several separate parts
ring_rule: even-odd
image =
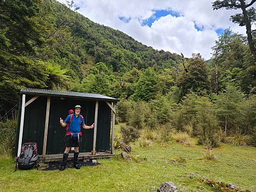
[[[59,118],[65,119],[75,105],[81,105],[86,125],[94,123],[94,129],[81,129],[79,159],[112,157],[118,101],[101,94],[21,89],[15,157],[22,143],[37,142],[41,162],[61,160],[66,128],[61,127]]]

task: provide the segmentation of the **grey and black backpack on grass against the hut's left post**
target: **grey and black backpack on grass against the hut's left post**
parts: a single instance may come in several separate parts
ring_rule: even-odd
[[[21,170],[33,169],[39,167],[39,154],[37,152],[37,143],[28,142],[23,143],[21,147],[21,153],[16,160],[16,166],[14,172],[17,170],[17,166]]]

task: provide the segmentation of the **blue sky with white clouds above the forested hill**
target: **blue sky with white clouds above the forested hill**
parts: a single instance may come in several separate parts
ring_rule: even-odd
[[[65,0],[57,0],[66,4]],[[224,29],[246,35],[246,28],[229,21],[241,9],[213,10],[213,0],[74,0],[78,13],[100,25],[118,29],[156,50],[184,57],[212,57]],[[250,1],[251,2],[251,1]],[[256,3],[253,5],[256,8]],[[252,25],[255,29],[256,26]]]

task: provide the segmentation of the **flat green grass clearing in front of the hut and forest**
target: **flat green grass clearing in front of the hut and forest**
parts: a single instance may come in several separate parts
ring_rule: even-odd
[[[118,130],[118,127],[117,127]],[[190,139],[190,140],[193,140]],[[204,158],[202,146],[153,142],[142,148],[139,141],[131,144],[134,161],[115,157],[98,159],[98,166],[64,171],[17,170],[14,160],[0,156],[1,191],[157,191],[166,181],[181,191],[217,191],[199,178],[256,190],[255,147],[222,144],[213,149],[215,160]]]

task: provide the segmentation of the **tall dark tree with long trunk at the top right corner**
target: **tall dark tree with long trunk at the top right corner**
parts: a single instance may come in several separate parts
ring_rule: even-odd
[[[242,9],[242,14],[236,14],[230,17],[230,20],[239,23],[240,26],[246,26],[246,33],[248,44],[252,53],[253,65],[256,66],[256,47],[252,37],[252,25],[256,21],[256,11],[254,8],[250,8],[256,0],[252,0],[247,3],[245,0],[222,0],[212,3],[213,10],[218,9]]]

